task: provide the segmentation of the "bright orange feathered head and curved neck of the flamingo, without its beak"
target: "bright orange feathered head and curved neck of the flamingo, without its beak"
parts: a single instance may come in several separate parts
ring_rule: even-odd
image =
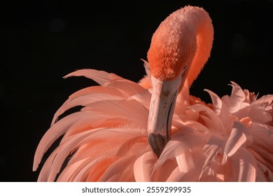
[[[182,69],[187,68],[188,73],[194,63],[188,78],[191,85],[209,58],[213,36],[205,10],[192,6],[176,10],[153,34],[147,56],[151,74],[160,80],[173,80]]]

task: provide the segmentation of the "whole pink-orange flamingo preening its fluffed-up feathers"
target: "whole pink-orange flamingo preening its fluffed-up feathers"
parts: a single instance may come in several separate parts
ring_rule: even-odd
[[[273,95],[258,98],[231,82],[230,95],[189,94],[210,56],[214,28],[203,9],[186,6],[153,34],[139,83],[82,69],[99,85],[71,94],[34,156],[38,181],[273,181]],[[58,120],[65,111],[80,111]]]

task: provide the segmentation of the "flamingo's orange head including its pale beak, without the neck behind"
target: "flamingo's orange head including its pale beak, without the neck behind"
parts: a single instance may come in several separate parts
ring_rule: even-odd
[[[197,50],[197,36],[188,6],[169,15],[153,34],[148,50],[153,92],[148,118],[148,141],[160,154],[169,141],[176,97],[183,87]]]

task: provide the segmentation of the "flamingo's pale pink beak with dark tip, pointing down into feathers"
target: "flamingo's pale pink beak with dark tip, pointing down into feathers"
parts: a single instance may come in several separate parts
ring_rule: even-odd
[[[151,76],[153,92],[148,117],[148,141],[158,158],[171,136],[172,118],[181,81],[182,75],[167,81]]]

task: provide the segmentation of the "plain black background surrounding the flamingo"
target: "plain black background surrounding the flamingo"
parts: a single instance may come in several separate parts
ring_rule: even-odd
[[[230,80],[272,94],[273,1],[8,1],[1,6],[0,180],[36,181],[38,141],[72,92],[94,85],[62,79],[92,68],[138,81],[153,32],[167,15],[202,6],[214,23],[211,58],[192,87],[230,94]]]

